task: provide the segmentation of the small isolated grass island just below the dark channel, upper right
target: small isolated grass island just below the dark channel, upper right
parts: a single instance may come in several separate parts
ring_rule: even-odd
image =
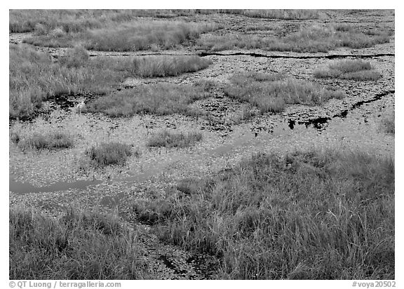
[[[318,68],[314,70],[314,77],[376,81],[382,76],[379,72],[373,70],[368,61],[339,60],[331,63],[327,68]]]

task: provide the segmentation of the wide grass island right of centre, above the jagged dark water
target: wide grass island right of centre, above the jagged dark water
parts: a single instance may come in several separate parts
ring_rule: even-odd
[[[265,112],[282,112],[287,104],[320,105],[330,98],[344,98],[340,91],[327,90],[309,81],[283,74],[234,74],[224,88],[225,95],[250,102]]]

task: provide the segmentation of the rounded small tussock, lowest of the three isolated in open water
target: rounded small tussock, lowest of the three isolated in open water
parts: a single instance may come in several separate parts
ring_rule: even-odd
[[[119,142],[102,142],[100,145],[90,147],[86,154],[95,166],[122,166],[132,155],[132,147]]]

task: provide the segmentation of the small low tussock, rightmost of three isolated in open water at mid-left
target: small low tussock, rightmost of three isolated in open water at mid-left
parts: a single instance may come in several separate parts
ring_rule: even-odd
[[[202,140],[201,133],[174,133],[162,130],[155,133],[147,140],[148,147],[190,147],[195,142]]]

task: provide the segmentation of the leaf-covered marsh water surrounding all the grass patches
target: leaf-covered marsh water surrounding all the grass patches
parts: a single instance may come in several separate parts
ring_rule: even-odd
[[[346,13],[328,11],[318,20],[267,20],[243,15],[195,15],[173,20],[209,20],[223,28],[212,34],[257,34],[279,36],[309,25],[349,23],[359,29],[386,28],[394,30],[394,15],[386,11]],[[246,31],[245,27],[271,27]],[[10,34],[10,43],[20,43],[30,34]],[[201,36],[207,37],[207,34]],[[204,177],[230,168],[255,152],[289,152],[311,147],[361,149],[375,154],[394,154],[394,135],[384,133],[380,123],[394,112],[394,36],[389,43],[365,49],[339,49],[329,53],[283,53],[255,50],[197,51],[190,43],[170,51],[136,53],[105,53],[97,55],[201,55],[213,61],[208,68],[180,76],[153,79],[126,79],[120,89],[140,83],[194,83],[206,79],[217,81],[209,98],[192,106],[208,112],[198,119],[175,114],[172,116],[135,115],[110,118],[103,114],[77,114],[73,107],[77,95],[65,95],[44,103],[31,121],[11,121],[10,131],[20,133],[46,132],[63,129],[74,135],[75,146],[57,152],[34,152],[9,142],[10,206],[35,206],[50,215],[58,215],[69,203],[105,210],[118,210],[123,222],[135,225],[141,232],[147,256],[161,278],[215,278],[215,260],[185,252],[181,248],[159,242],[149,226],[139,224],[128,212],[126,204],[133,198],[148,198],[150,191],[164,194],[165,189],[184,177]],[[48,51],[55,60],[65,48],[38,48]],[[382,74],[378,81],[314,79],[313,71],[333,59],[363,58]],[[321,107],[290,105],[281,114],[254,116],[236,121],[245,103],[224,96],[223,86],[236,72],[285,72],[297,79],[307,79],[330,88],[343,90],[347,97],[330,100]],[[82,96],[81,96],[82,97]],[[86,95],[84,96],[86,97]],[[87,95],[88,99],[94,95]],[[203,139],[194,147],[184,149],[148,148],[150,134],[163,128],[182,132],[198,131]],[[79,170],[85,150],[105,141],[118,141],[137,147],[140,157],[132,156],[126,166]]]

